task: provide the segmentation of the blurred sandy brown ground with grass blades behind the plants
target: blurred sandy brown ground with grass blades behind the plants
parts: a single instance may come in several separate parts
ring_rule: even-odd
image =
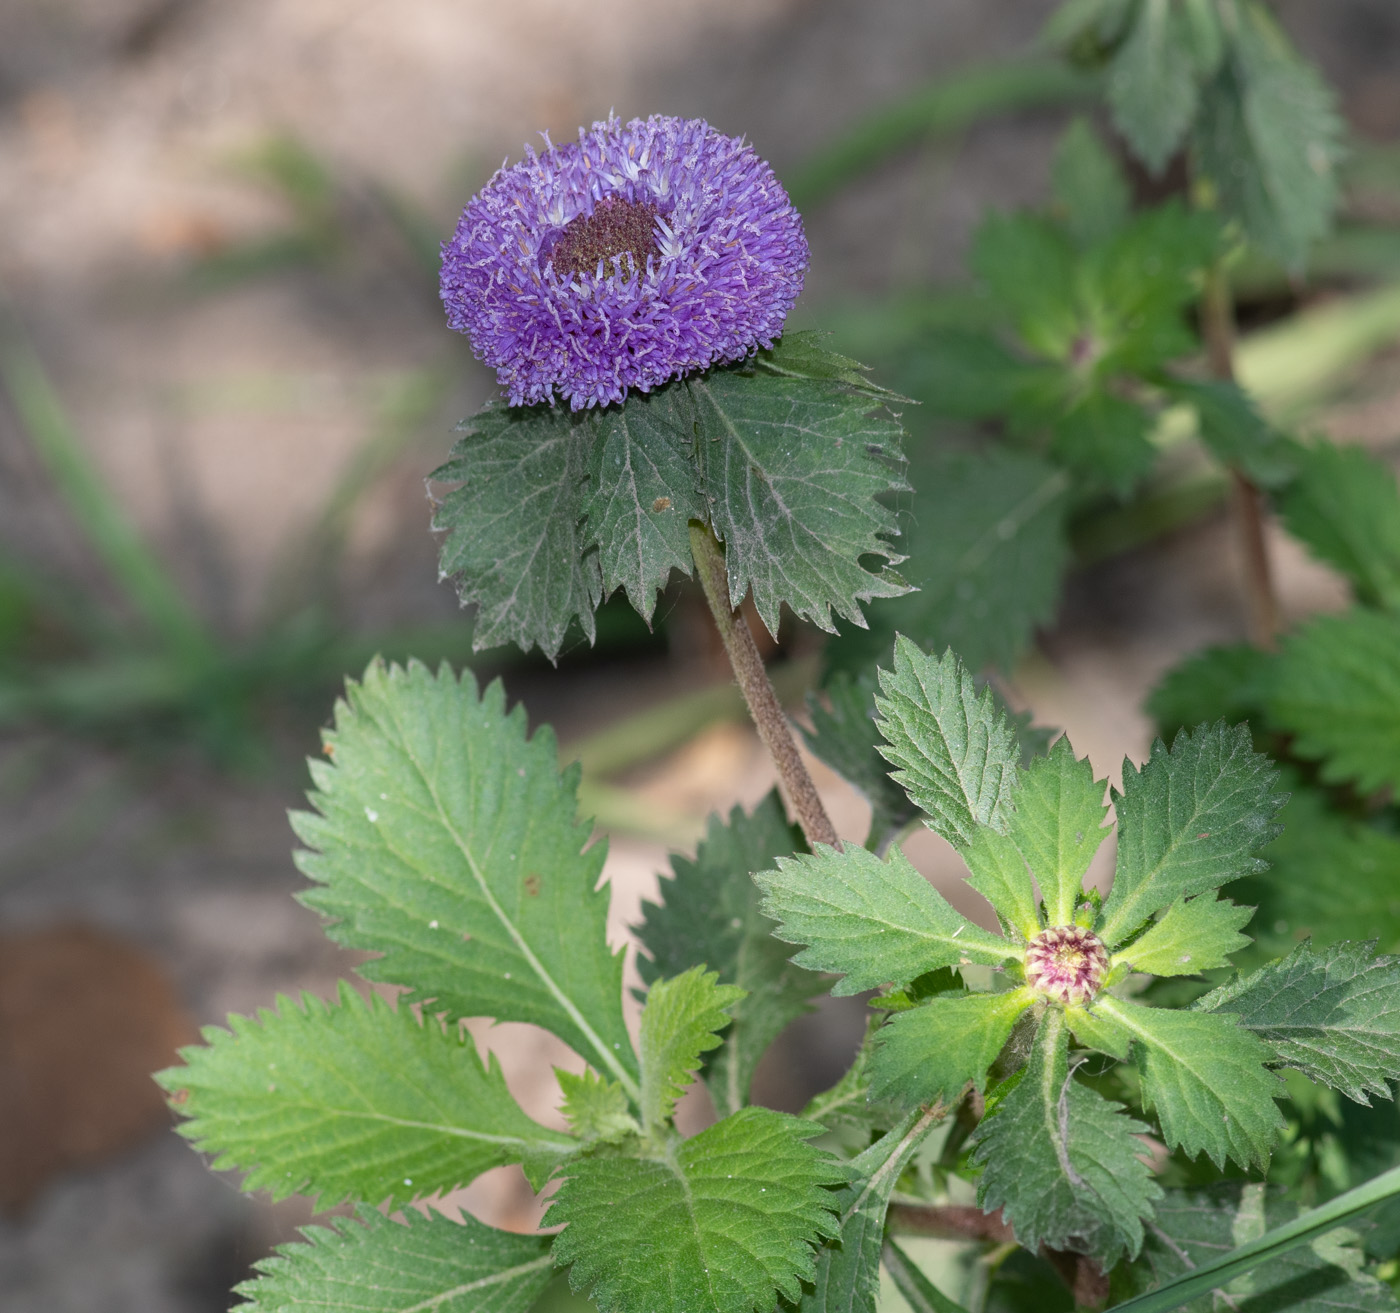
[[[794,323],[830,328],[881,378],[889,307],[966,280],[987,207],[1044,200],[1085,101],[1044,73],[1054,8],[0,0],[6,1310],[221,1310],[307,1219],[206,1172],[148,1072],[197,1026],[329,994],[354,966],[291,899],[286,809],[340,677],[374,652],[470,661],[556,725],[610,836],[619,942],[668,848],[771,785],[680,585],[655,631],[608,608],[596,648],[574,643],[557,669],[470,652],[424,477],[493,393],[437,302],[438,242],[472,192],[536,133],[609,111],[745,134],[805,214]],[[1275,10],[1341,95],[1344,223],[1392,241],[1324,255],[1309,283],[1264,280],[1245,315],[1260,333],[1400,279],[1400,8]],[[1348,343],[1291,420],[1393,456],[1396,312]],[[1271,543],[1288,616],[1344,603]],[[1145,754],[1161,672],[1242,637],[1233,552],[1211,508],[1190,532],[1085,552],[1005,691],[1117,778]],[[776,677],[797,698],[819,636],[781,638]],[[815,770],[837,827],[864,833],[861,799]],[[909,851],[955,878],[931,836]],[[788,1051],[806,1065],[770,1064],[776,1106],[834,1076],[858,1005],[799,1025]],[[487,1041],[546,1117],[559,1047],[510,1026]],[[462,1198],[500,1225],[536,1216],[510,1172]]]

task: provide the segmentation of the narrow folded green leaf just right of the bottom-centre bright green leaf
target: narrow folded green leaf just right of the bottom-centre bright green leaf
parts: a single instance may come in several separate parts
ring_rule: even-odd
[[[812,1289],[802,1293],[801,1313],[875,1313],[890,1193],[942,1117],[941,1109],[914,1109],[851,1159],[854,1180],[836,1197],[840,1237],[818,1251],[816,1274]]]

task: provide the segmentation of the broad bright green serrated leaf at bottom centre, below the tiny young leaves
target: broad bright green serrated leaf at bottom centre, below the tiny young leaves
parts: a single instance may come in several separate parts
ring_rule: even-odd
[[[769,1313],[794,1303],[812,1249],[836,1235],[846,1169],[806,1139],[819,1127],[746,1107],[655,1158],[570,1163],[545,1215],[554,1258],[602,1313]]]

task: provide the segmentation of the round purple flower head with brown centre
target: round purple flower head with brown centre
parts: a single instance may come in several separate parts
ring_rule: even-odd
[[[703,119],[616,118],[496,176],[442,245],[448,323],[512,406],[574,410],[773,346],[808,266],[773,169]]]

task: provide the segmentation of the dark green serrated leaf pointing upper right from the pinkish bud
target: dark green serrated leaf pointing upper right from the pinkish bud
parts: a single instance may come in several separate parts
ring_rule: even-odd
[[[1099,936],[1116,948],[1152,913],[1264,869],[1254,855],[1277,833],[1278,771],[1249,729],[1224,724],[1158,739],[1147,764],[1123,763],[1119,861]]]

